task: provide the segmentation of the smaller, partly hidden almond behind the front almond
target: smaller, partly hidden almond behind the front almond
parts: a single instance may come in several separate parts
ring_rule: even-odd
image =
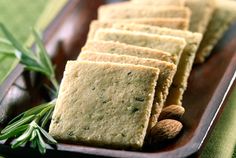
[[[185,112],[184,107],[180,105],[170,105],[162,109],[158,120],[174,119],[179,120]]]

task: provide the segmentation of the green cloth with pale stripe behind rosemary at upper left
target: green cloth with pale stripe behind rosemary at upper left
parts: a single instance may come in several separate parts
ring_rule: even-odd
[[[6,25],[19,41],[30,46],[32,27],[43,30],[66,2],[67,0],[0,0],[0,22]],[[3,37],[2,32],[0,37]],[[0,47],[4,48],[1,45]],[[17,63],[16,58],[0,52],[0,84]]]

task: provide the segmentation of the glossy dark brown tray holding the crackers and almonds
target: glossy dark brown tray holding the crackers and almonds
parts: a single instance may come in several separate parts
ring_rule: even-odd
[[[58,80],[62,78],[67,60],[76,59],[86,41],[89,23],[96,18],[96,10],[103,0],[69,1],[60,15],[45,32],[45,44],[52,52],[57,65]],[[184,96],[186,113],[182,118],[184,130],[173,142],[159,148],[144,148],[143,151],[121,151],[84,145],[58,144],[57,150],[49,147],[46,157],[188,157],[198,156],[211,129],[224,108],[226,97],[236,77],[236,24],[232,25],[203,65],[194,66]],[[29,83],[30,75],[15,71],[0,86],[0,120],[8,121],[21,111],[48,99],[38,84],[41,76]],[[15,81],[15,82],[14,82]],[[13,84],[14,82],[14,84]],[[33,85],[32,85],[33,84]],[[39,91],[38,93],[36,91]],[[7,92],[7,93],[2,93]],[[5,94],[5,95],[4,95]],[[8,142],[2,142],[0,153],[29,156],[37,152],[29,147],[10,149]]]

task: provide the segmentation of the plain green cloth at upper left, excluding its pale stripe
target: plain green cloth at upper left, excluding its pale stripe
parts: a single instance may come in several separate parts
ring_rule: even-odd
[[[46,2],[47,0],[0,0],[0,22],[6,25],[18,40],[25,43]],[[0,37],[3,37],[2,32]],[[16,58],[0,53],[0,84],[17,63]]]

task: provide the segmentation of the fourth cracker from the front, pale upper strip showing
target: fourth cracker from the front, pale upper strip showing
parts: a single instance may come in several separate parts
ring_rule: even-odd
[[[118,29],[99,29],[96,32],[94,39],[121,42],[140,47],[162,50],[177,56],[177,59],[180,59],[186,46],[184,38]],[[179,60],[176,61],[176,65],[178,64],[178,61]]]

